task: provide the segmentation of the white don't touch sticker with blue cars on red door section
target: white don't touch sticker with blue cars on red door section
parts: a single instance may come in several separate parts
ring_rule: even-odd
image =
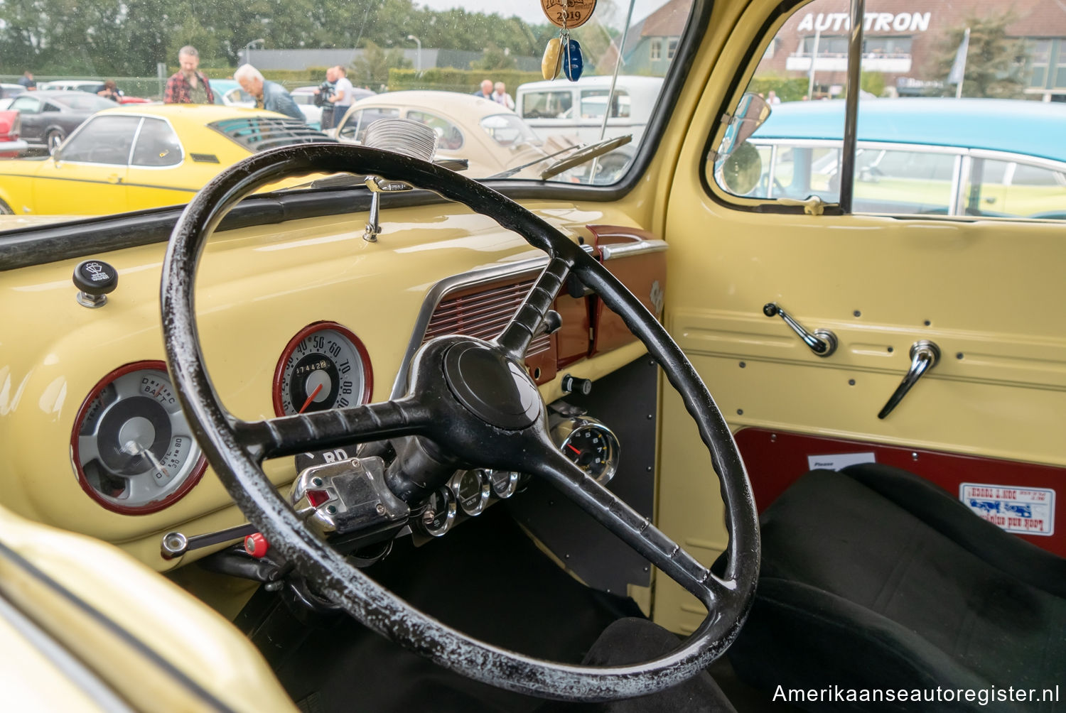
[[[958,499],[978,517],[1007,532],[1022,535],[1054,534],[1054,490],[963,483],[958,486]]]

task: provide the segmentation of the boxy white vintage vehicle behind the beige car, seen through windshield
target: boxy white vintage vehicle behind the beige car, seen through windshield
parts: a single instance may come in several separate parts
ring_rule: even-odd
[[[662,77],[619,76],[603,137],[631,133],[633,145],[639,144],[662,84]],[[610,90],[609,76],[582,77],[576,82],[566,78],[529,82],[518,87],[515,111],[543,140],[577,132],[578,141],[587,144],[599,141]]]

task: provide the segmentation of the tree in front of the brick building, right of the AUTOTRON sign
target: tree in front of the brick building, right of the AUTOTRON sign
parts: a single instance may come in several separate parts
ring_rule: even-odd
[[[992,99],[1016,99],[1022,96],[1025,82],[1024,40],[1008,37],[1007,28],[1015,21],[1011,11],[1001,15],[970,16],[965,23],[948,32],[934,60],[935,76],[947,78],[955,61],[966,28],[970,28],[970,45],[966,54],[963,96]],[[946,85],[944,94],[954,92]]]

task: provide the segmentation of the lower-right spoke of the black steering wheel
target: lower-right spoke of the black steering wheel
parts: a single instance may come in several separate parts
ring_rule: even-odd
[[[651,520],[578,468],[555,448],[546,448],[537,458],[535,475],[554,485],[566,498],[635,550],[672,580],[698,598],[708,609],[728,596],[731,586],[680,545],[651,524]]]

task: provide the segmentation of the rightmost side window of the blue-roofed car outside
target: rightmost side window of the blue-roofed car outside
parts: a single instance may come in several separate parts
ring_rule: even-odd
[[[1060,169],[1024,162],[974,158],[966,181],[968,215],[1066,220],[1066,165]]]

